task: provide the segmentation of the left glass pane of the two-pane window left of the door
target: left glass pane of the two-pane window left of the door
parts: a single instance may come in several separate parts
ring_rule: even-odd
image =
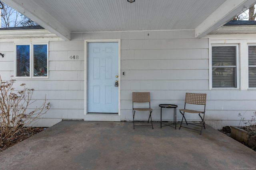
[[[16,76],[30,76],[29,45],[16,45]]]

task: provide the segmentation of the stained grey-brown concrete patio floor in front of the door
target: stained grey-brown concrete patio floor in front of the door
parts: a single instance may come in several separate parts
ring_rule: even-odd
[[[62,121],[0,152],[2,170],[256,169],[256,152],[206,126]]]

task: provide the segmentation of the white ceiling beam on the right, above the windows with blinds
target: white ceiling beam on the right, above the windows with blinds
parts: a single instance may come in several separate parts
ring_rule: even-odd
[[[210,14],[210,16],[196,27],[195,37],[204,37],[211,31],[241,14],[244,9],[249,9],[249,7],[255,3],[256,0],[226,0],[226,2],[224,2],[217,10]]]

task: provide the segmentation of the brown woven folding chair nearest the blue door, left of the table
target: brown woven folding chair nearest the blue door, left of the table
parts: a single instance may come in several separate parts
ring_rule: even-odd
[[[146,108],[135,108],[134,103],[149,103],[149,107]],[[150,126],[150,125],[134,125],[134,116],[136,111],[149,111],[149,119],[151,119],[151,126],[153,128],[151,113],[153,109],[150,108],[150,92],[132,92],[132,117],[133,117],[133,129],[134,126]]]

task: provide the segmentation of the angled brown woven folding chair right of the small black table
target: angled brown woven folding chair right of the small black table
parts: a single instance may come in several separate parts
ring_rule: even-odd
[[[202,107],[201,111],[186,108],[187,106],[192,107],[193,105],[204,105],[204,108]],[[201,126],[201,131],[197,130],[197,129],[193,129],[193,130],[200,131],[200,135],[201,135],[203,127],[205,129],[205,125],[204,125],[205,106],[206,106],[206,94],[186,93],[184,109],[180,109],[180,113],[182,114],[182,121],[180,123],[180,127],[193,129],[190,127],[182,126],[183,119],[185,119],[187,125],[188,124],[196,125],[194,123],[187,122],[187,120],[185,118],[185,112],[186,113],[198,113],[199,117],[202,119],[202,125],[196,125],[196,126]],[[201,114],[204,114],[203,117],[201,116]]]

